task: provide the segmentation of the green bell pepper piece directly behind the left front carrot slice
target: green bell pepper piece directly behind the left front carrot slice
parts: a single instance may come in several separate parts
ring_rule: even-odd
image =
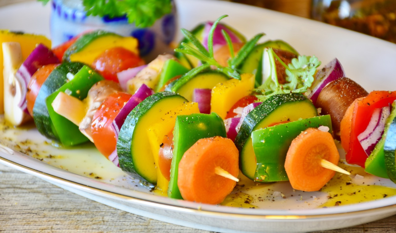
[[[173,157],[170,169],[170,181],[168,196],[176,199],[183,199],[177,186],[179,174],[179,162],[186,152],[199,139],[220,136],[227,137],[223,119],[216,113],[191,115],[179,115],[176,118],[175,129],[173,130]]]

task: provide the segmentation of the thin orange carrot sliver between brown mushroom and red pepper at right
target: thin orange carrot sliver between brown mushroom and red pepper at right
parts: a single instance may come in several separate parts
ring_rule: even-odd
[[[341,129],[340,129],[340,138],[341,138],[341,145],[343,146],[344,150],[348,152],[349,150],[349,141],[350,141],[350,131],[352,127],[352,118],[355,106],[358,104],[362,98],[355,99],[347,108],[343,119],[341,120]]]

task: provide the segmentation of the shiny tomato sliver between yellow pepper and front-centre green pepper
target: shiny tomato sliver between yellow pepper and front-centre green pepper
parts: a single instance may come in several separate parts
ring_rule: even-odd
[[[158,167],[166,180],[170,180],[170,166],[173,157],[173,131],[164,137],[158,152]]]

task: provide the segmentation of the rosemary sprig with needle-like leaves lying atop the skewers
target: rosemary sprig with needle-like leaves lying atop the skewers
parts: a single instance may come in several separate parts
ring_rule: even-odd
[[[256,35],[253,39],[248,41],[241,48],[241,50],[238,52],[238,54],[236,56],[234,56],[234,47],[232,45],[230,35],[225,30],[222,30],[221,33],[227,42],[227,45],[230,49],[230,54],[231,54],[231,58],[228,60],[228,66],[222,66],[214,59],[213,34],[214,34],[214,31],[215,31],[218,23],[220,22],[220,20],[222,20],[223,18],[225,18],[227,16],[228,15],[220,16],[213,23],[212,27],[210,28],[209,35],[208,35],[208,43],[207,43],[208,50],[206,50],[206,48],[203,47],[203,45],[199,42],[197,37],[195,37],[190,31],[182,28],[181,29],[182,34],[194,46],[190,46],[189,44],[182,42],[181,45],[183,46],[183,48],[176,48],[175,51],[195,56],[202,62],[202,64],[206,65],[207,68],[209,68],[210,66],[215,67],[216,70],[222,72],[227,77],[241,80],[241,75],[240,75],[240,72],[238,72],[237,68],[242,63],[242,61],[246,58],[247,54],[249,54],[251,52],[251,50],[253,50],[253,48],[256,45],[256,43],[258,42],[258,40],[260,40],[260,38],[262,36],[264,36],[264,34],[260,33],[260,34]],[[189,71],[186,75],[189,75],[190,73],[197,73],[196,72],[197,69],[199,69],[200,71],[206,70],[206,69],[199,68],[199,66],[198,66],[198,67],[192,69],[191,71]]]

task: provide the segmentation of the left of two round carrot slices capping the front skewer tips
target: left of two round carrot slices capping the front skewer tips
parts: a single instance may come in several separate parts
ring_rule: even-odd
[[[236,185],[235,181],[216,175],[216,167],[238,176],[239,152],[234,142],[222,137],[198,140],[179,163],[177,185],[183,199],[219,204]]]

